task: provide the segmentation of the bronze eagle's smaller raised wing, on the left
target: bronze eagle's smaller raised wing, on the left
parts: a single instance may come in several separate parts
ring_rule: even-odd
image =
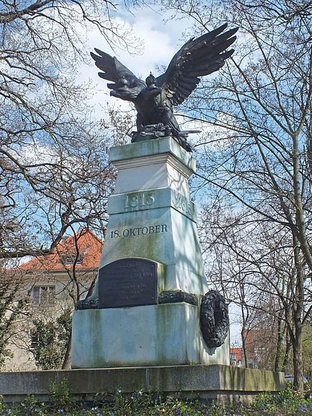
[[[108,53],[96,48],[94,48],[94,51],[98,55],[93,52],[90,52],[90,54],[95,61],[96,67],[103,71],[99,72],[98,76],[114,83],[107,84],[107,87],[113,90],[111,95],[131,101],[146,87],[146,83],[137,78],[115,56],[108,55]]]

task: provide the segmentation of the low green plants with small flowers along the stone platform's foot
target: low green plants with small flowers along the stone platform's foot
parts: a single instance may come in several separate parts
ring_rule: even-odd
[[[28,397],[21,404],[7,406],[0,402],[0,416],[295,416],[312,415],[312,400],[300,399],[291,385],[276,395],[263,393],[252,406],[241,402],[221,406],[216,402],[203,404],[199,400],[162,397],[141,390],[123,395],[96,395],[93,403],[74,402],[69,394],[67,380],[51,384],[51,401],[44,404]]]

